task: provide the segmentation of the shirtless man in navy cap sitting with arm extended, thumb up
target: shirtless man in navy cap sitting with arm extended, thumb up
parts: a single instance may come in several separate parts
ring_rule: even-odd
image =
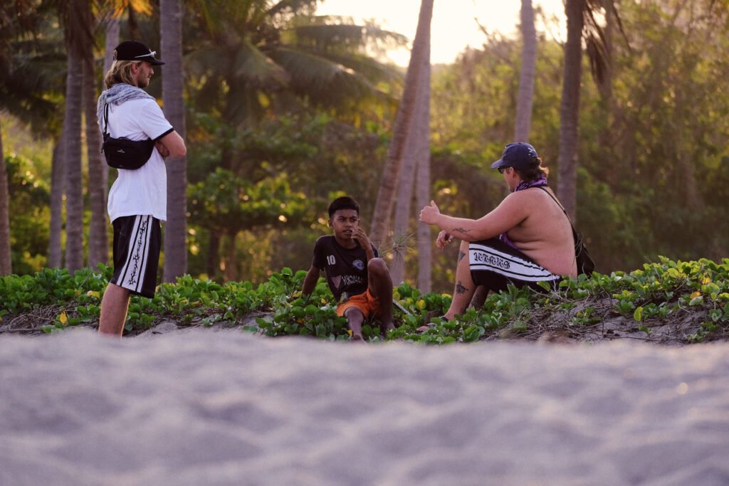
[[[534,147],[508,144],[491,168],[502,173],[511,194],[486,216],[447,216],[433,201],[420,212],[421,222],[442,230],[438,248],[453,238],[461,240],[453,301],[443,316],[449,320],[464,313],[477,286],[499,291],[513,283],[541,289],[539,281],[556,287],[562,276],[577,276],[572,226],[553,200],[547,187],[549,170]]]

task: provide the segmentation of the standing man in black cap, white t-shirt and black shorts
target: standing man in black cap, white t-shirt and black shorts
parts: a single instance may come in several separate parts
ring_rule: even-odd
[[[96,115],[102,131],[106,129],[113,138],[155,141],[149,160],[136,170],[119,169],[109,191],[114,275],[101,300],[100,334],[122,335],[131,294],[150,298],[155,295],[162,240],[160,221],[167,219],[164,159],[187,153],[182,137],[165,119],[155,98],[142,89],[155,74],[152,66],[164,64],[155,54],[141,42],[119,44],[104,78],[106,90],[98,98]]]

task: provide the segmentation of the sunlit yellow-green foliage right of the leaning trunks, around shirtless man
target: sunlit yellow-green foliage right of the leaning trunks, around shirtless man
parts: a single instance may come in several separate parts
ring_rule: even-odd
[[[613,26],[605,82],[582,81],[577,228],[602,272],[659,254],[720,259],[729,248],[720,224],[729,211],[729,9],[662,0],[619,10],[625,36]],[[530,141],[556,187],[562,52],[544,36],[537,52]],[[512,136],[520,67],[520,42],[494,36],[436,74],[437,144],[498,159]]]

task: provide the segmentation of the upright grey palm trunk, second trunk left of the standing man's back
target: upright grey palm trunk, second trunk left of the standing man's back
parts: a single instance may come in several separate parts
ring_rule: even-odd
[[[81,165],[82,60],[69,50],[66,76],[66,268],[74,272],[84,265],[84,201]]]

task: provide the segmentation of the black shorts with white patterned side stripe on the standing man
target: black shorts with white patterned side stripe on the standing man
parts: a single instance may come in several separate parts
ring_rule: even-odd
[[[132,294],[155,297],[160,264],[160,220],[150,215],[114,219],[114,276],[109,281]]]

